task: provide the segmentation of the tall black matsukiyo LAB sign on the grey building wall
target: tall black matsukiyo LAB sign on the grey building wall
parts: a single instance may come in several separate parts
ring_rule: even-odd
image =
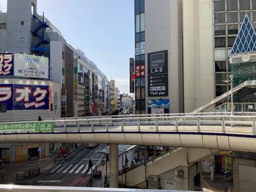
[[[147,55],[148,96],[168,96],[168,50]]]

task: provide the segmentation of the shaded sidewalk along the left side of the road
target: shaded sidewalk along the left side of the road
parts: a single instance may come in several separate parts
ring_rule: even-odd
[[[80,147],[72,148],[66,157],[68,158],[73,155],[79,148]],[[63,162],[64,160],[65,157],[61,157],[60,152],[55,151],[41,160],[29,160],[22,163],[4,163],[4,168],[0,168],[0,183],[22,183],[22,180],[27,180],[42,173],[46,173],[54,165]]]

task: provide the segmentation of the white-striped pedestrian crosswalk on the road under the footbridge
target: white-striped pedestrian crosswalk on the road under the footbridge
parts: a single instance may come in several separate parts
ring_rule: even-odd
[[[93,166],[95,167],[95,166]],[[50,173],[75,173],[75,174],[85,174],[89,172],[88,165],[79,165],[79,164],[60,164],[57,167],[50,170]]]

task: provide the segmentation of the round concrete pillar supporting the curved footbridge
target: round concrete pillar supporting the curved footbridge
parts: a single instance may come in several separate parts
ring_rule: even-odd
[[[118,188],[118,145],[109,145],[109,187]]]

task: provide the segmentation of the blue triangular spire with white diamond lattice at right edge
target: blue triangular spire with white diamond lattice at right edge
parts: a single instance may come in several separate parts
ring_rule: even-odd
[[[256,32],[247,14],[231,50],[231,54],[256,51]]]

